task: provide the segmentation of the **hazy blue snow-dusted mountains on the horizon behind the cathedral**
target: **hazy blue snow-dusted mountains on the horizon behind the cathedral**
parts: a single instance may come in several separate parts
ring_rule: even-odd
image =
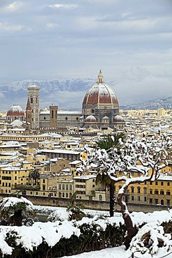
[[[125,90],[125,86],[117,81],[107,82],[118,96],[122,109],[157,109],[159,107],[172,108],[172,96],[153,98],[148,94],[134,95]],[[61,79],[61,80],[34,80],[31,79],[0,84],[0,110],[6,111],[11,105],[18,104],[23,109],[26,107],[27,87],[36,84],[40,86],[40,108],[49,105],[58,105],[58,109],[81,110],[81,103],[88,89],[95,84],[95,79]],[[127,84],[127,83],[126,83]],[[150,100],[148,100],[150,99]],[[152,100],[151,100],[152,99]]]

